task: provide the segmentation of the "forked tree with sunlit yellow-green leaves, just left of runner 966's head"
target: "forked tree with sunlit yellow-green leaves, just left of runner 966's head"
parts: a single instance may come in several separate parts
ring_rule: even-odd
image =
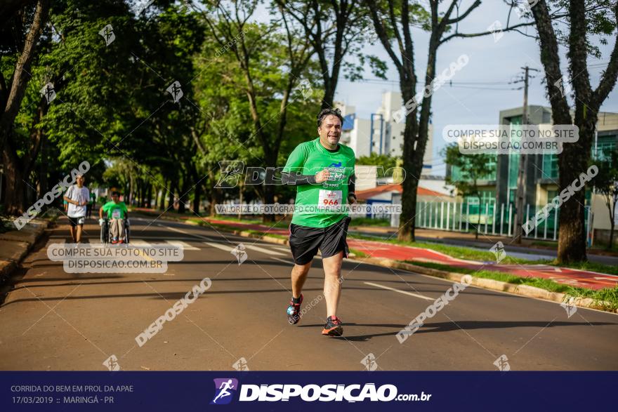
[[[231,4],[230,4],[231,3]],[[261,145],[264,166],[276,167],[287,124],[287,110],[294,88],[298,86],[313,51],[297,27],[282,15],[272,27],[251,24],[258,1],[212,2],[203,13],[209,34],[221,51],[228,50],[237,60],[244,77],[243,88],[249,102],[253,135]],[[273,72],[272,69],[276,70]],[[268,75],[268,76],[267,76]],[[261,79],[261,81],[257,81]],[[262,95],[264,92],[268,92]],[[275,114],[269,106],[277,100]],[[270,115],[269,115],[270,112]],[[275,130],[267,127],[277,119]],[[263,202],[272,204],[275,187],[263,187]],[[272,215],[264,215],[272,221]]]

